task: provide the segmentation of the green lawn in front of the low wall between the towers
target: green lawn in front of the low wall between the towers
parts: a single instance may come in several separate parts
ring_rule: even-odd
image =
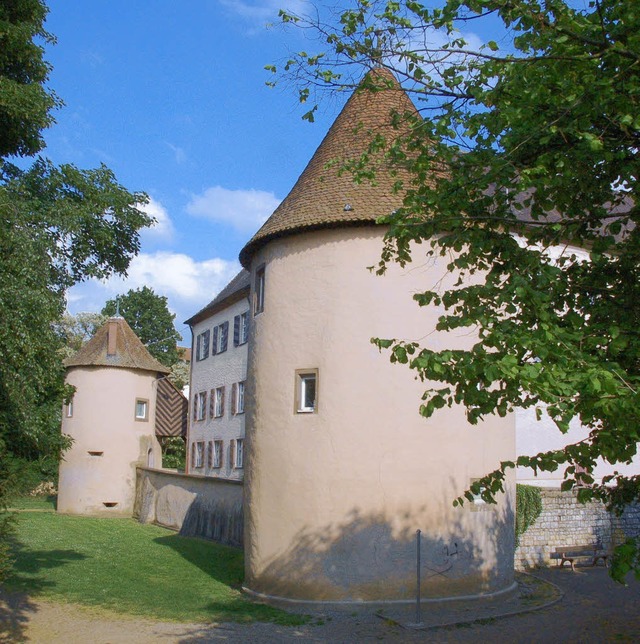
[[[10,592],[181,622],[307,621],[242,595],[235,548],[133,519],[21,512],[16,527]]]

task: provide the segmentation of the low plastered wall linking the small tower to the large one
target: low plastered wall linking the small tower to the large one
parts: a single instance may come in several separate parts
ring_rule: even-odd
[[[184,536],[240,547],[242,497],[241,481],[138,467],[133,515]]]

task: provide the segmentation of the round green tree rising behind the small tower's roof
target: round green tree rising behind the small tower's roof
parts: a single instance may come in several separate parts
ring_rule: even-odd
[[[173,326],[176,316],[169,312],[166,297],[157,295],[148,286],[131,289],[125,295],[108,300],[102,315],[112,316],[117,310],[154,358],[167,367],[179,361],[177,342],[180,334]]]

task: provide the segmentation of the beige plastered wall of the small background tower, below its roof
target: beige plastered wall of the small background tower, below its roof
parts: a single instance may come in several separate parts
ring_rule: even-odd
[[[68,370],[67,382],[76,393],[73,416],[63,414],[62,432],[73,445],[60,463],[59,512],[132,515],[136,466],[162,464],[154,433],[155,380],[155,373],[141,370]],[[135,418],[138,398],[149,401],[146,421]]]

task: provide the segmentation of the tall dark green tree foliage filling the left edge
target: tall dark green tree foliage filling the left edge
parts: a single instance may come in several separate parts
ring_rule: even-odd
[[[147,197],[120,186],[101,166],[54,166],[42,157],[42,131],[59,99],[46,89],[41,0],[0,5],[0,570],[8,525],[2,515],[25,472],[57,468],[65,447],[65,388],[56,329],[65,292],[88,277],[123,274],[152,223]],[[21,167],[10,162],[23,157]]]

